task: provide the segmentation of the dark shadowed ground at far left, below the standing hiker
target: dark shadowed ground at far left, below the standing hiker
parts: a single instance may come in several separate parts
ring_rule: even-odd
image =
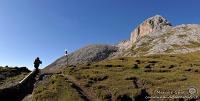
[[[32,93],[36,73],[31,72],[32,75],[27,77],[29,72],[26,67],[0,67],[0,99],[21,101],[27,94]],[[27,78],[23,79],[25,76]]]

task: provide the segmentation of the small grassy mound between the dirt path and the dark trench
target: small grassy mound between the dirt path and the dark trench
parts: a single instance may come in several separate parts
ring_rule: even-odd
[[[81,95],[63,76],[54,74],[33,91],[33,101],[83,101]]]

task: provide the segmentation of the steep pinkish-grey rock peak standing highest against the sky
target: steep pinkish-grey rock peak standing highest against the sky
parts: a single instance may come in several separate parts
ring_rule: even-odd
[[[171,23],[168,22],[164,17],[160,15],[150,17],[131,33],[130,41],[131,43],[135,43],[142,36],[170,27]]]

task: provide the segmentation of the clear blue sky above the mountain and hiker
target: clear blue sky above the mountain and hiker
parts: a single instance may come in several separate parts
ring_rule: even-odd
[[[0,0],[0,65],[43,67],[88,44],[129,39],[144,19],[200,23],[199,0]]]

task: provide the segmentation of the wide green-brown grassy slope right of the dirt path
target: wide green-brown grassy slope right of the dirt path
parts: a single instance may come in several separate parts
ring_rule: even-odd
[[[179,91],[176,96],[188,96],[189,87],[200,89],[199,56],[200,52],[124,57],[66,69],[66,74],[75,76],[104,100],[116,100],[120,96],[134,99],[141,89],[151,96],[158,96],[156,91],[164,90],[167,94],[162,96],[172,95],[170,91]]]

